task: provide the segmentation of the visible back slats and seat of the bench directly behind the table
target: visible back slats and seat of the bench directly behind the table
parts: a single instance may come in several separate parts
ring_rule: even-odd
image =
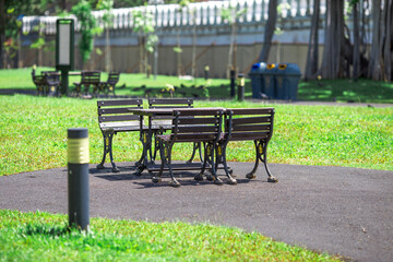
[[[148,98],[148,108],[192,108],[192,98]],[[156,116],[152,118],[153,127],[169,129],[171,116]]]

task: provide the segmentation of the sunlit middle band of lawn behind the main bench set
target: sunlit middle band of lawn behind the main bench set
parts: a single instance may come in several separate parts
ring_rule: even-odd
[[[393,107],[330,107],[196,100],[195,107],[265,107],[276,109],[270,163],[348,166],[393,170]],[[35,96],[0,96],[0,175],[67,166],[67,129],[87,128],[91,163],[100,162],[102,133],[96,100]],[[228,145],[228,160],[252,162],[251,142]],[[138,132],[114,140],[116,162],[136,160]],[[189,155],[179,143],[174,159]],[[108,164],[107,164],[108,165]]]

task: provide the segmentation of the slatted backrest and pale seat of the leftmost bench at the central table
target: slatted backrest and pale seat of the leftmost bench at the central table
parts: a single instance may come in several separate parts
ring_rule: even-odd
[[[135,99],[112,99],[97,100],[98,123],[103,128],[140,126],[140,117],[128,109],[143,108],[143,100]]]

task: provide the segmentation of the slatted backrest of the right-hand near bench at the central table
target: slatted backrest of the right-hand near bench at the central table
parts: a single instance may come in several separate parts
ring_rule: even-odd
[[[266,140],[273,134],[274,108],[227,109],[225,136],[229,141]]]

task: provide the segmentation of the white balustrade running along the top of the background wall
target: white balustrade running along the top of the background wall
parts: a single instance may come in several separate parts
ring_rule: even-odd
[[[290,20],[298,17],[309,17],[313,12],[312,0],[279,0],[282,4],[281,16]],[[246,15],[239,19],[239,23],[261,23],[267,19],[269,0],[230,0],[230,1],[209,1],[190,3],[187,8],[180,9],[178,4],[157,4],[127,9],[114,9],[111,29],[127,29],[133,27],[133,12],[151,12],[155,20],[155,27],[159,31],[162,27],[192,26],[214,26],[227,24],[222,19],[222,9],[229,5],[237,10],[247,9]],[[321,15],[325,12],[325,0],[321,1]],[[104,27],[104,11],[94,11],[94,16]],[[74,16],[70,16],[75,19]],[[56,21],[58,16],[24,16],[22,31],[24,34],[34,32],[35,26],[41,24],[41,31],[47,35],[56,34]],[[76,20],[76,19],[75,19]],[[75,23],[75,29],[79,31],[80,24]]]

